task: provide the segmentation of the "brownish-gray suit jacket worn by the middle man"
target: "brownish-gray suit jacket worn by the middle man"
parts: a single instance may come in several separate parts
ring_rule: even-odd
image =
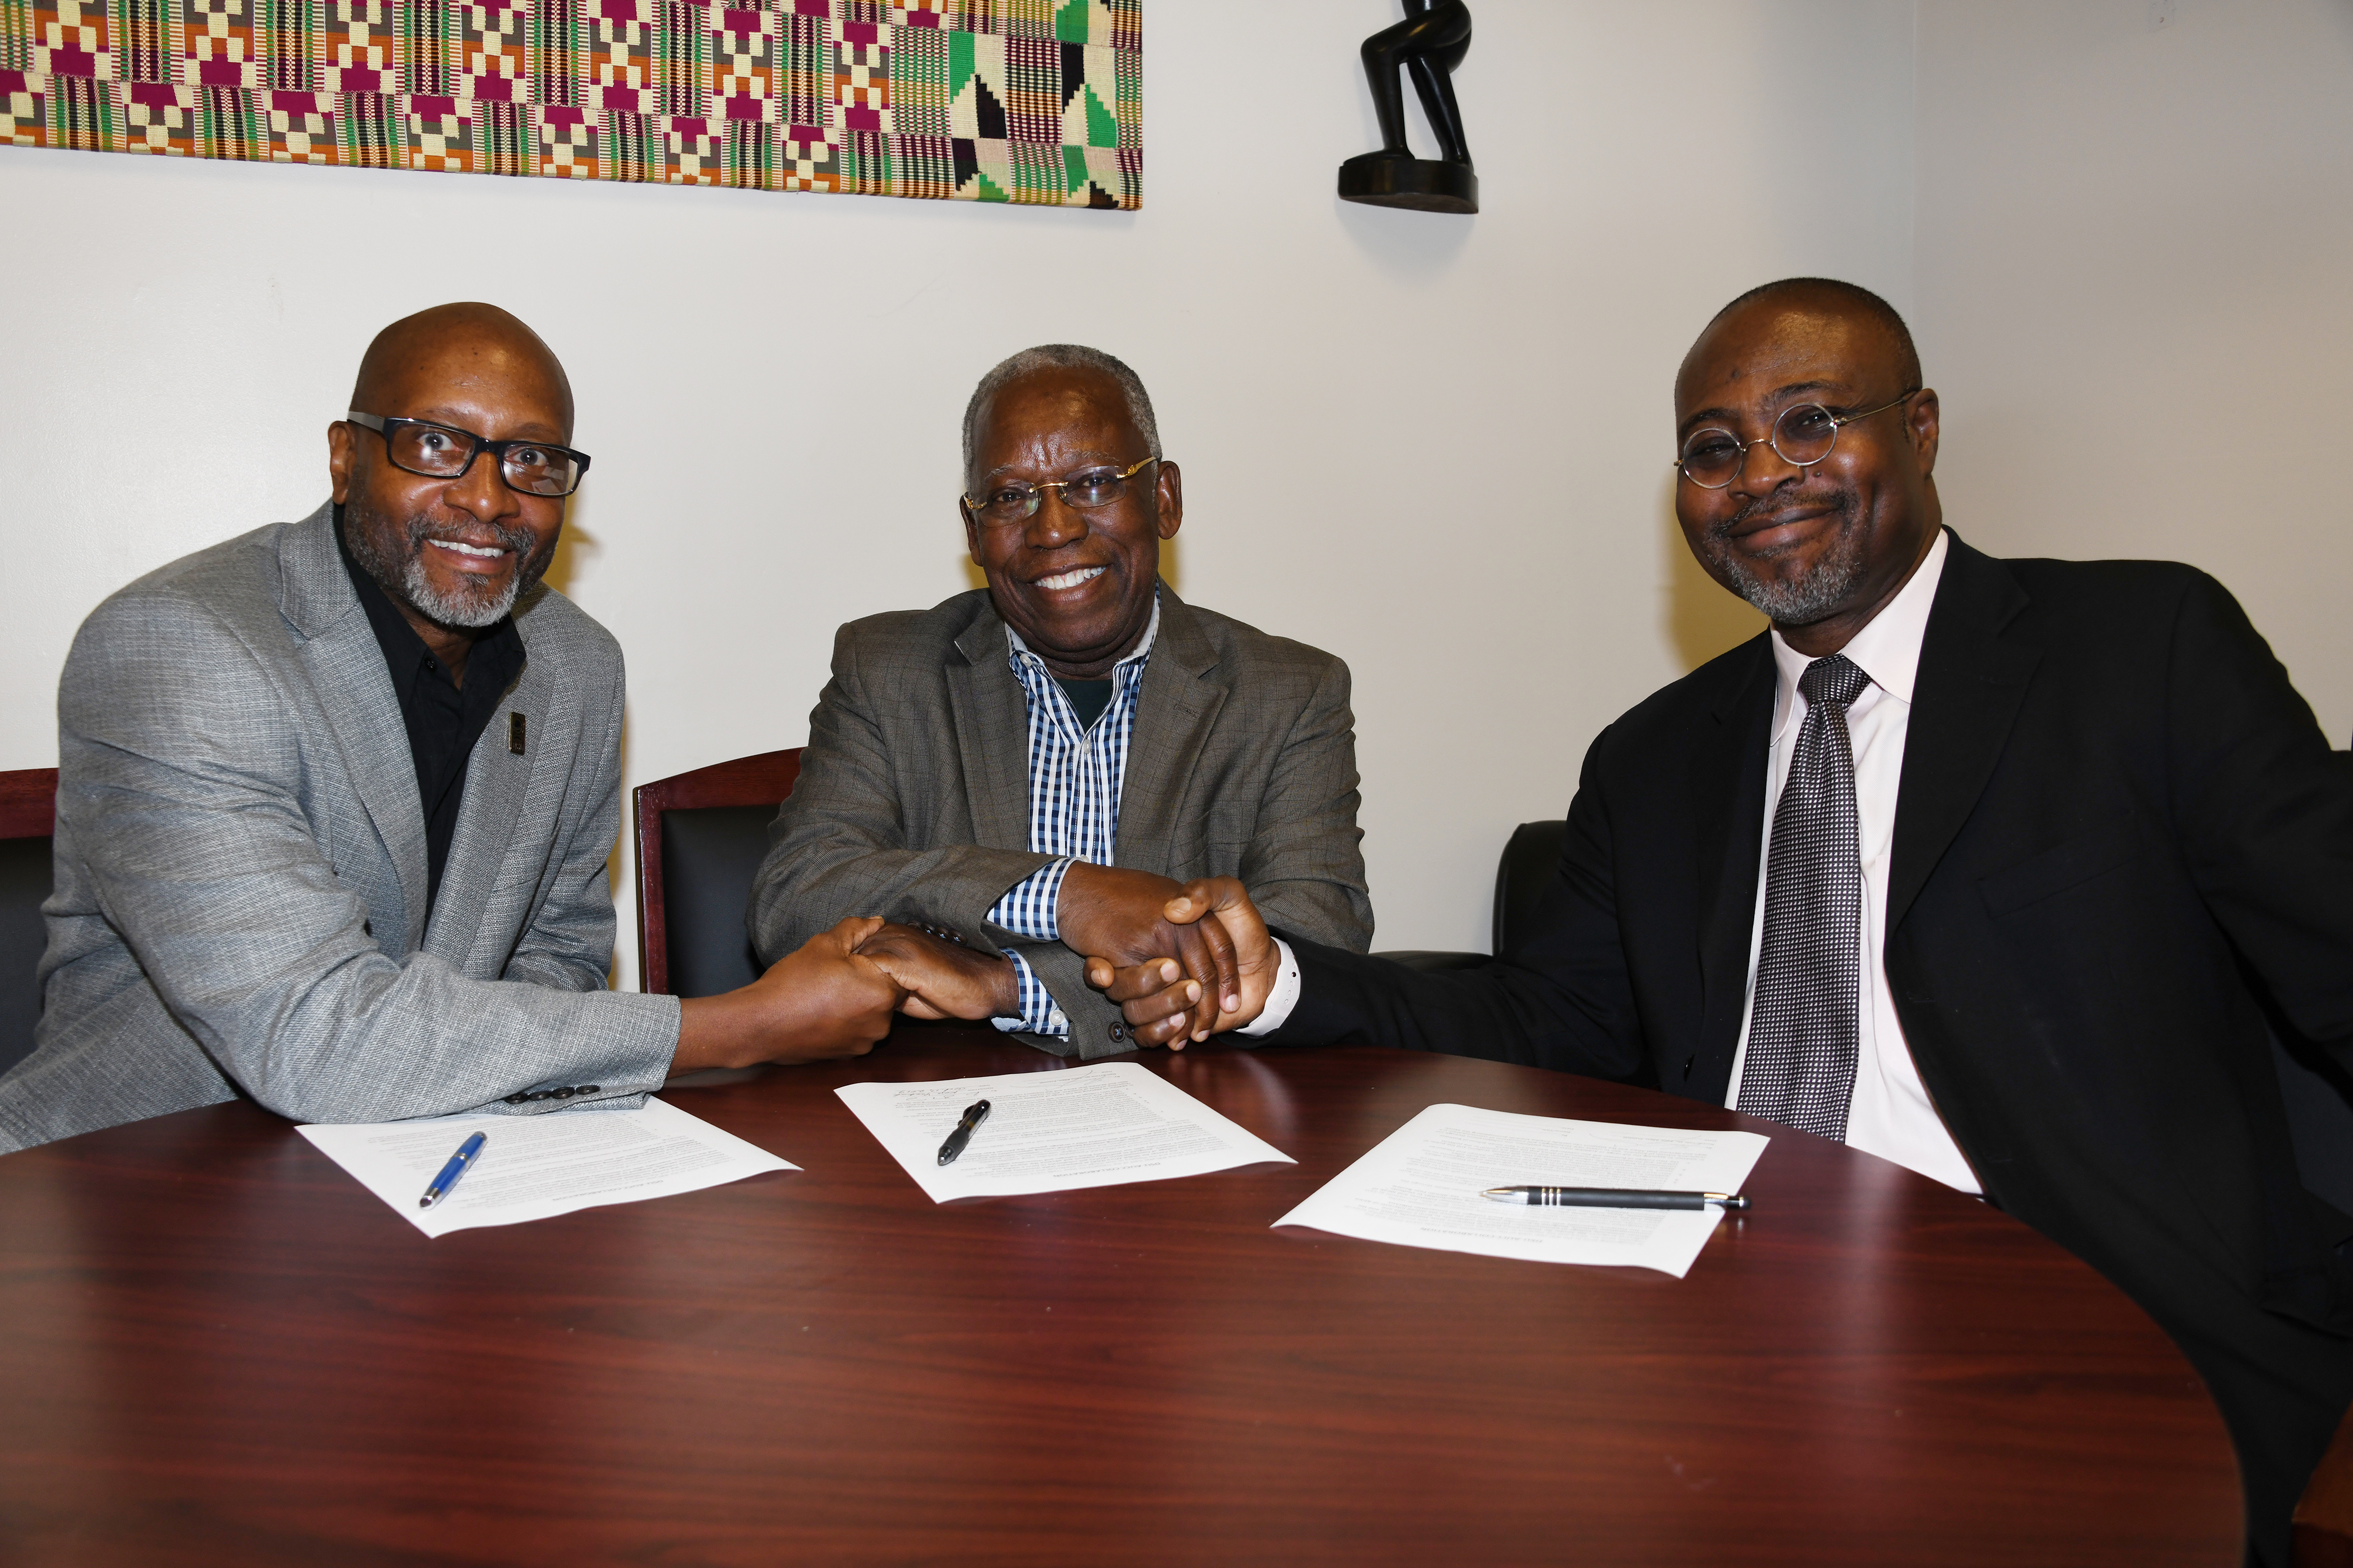
[[[769,830],[751,936],[774,961],[847,914],[932,922],[1019,947],[1071,1020],[1056,1056],[1132,1051],[1082,959],[986,922],[1052,856],[1028,849],[1028,701],[986,590],[852,621],[809,715],[800,783]],[[1362,952],[1372,898],[1355,825],[1348,665],[1193,609],[1160,585],[1136,693],[1118,865],[1240,877],[1266,922]]]

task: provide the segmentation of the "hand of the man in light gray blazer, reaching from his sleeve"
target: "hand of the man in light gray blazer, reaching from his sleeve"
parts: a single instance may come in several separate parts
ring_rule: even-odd
[[[856,952],[880,929],[878,917],[845,919],[776,959],[751,985],[682,999],[671,1077],[873,1051],[906,997],[906,987]]]

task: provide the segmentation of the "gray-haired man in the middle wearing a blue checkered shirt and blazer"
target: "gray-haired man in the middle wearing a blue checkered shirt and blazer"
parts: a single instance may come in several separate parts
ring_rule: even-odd
[[[1275,926],[1362,952],[1348,665],[1158,578],[1184,489],[1136,374],[1071,343],[998,364],[965,409],[965,489],[988,588],[835,637],[753,882],[758,952],[852,912],[939,926],[967,961],[953,987],[901,971],[911,1011],[1085,1058],[1136,1046],[1080,954],[1162,957],[1193,1039],[1240,1006],[1224,929],[1162,919],[1179,879],[1240,877]]]

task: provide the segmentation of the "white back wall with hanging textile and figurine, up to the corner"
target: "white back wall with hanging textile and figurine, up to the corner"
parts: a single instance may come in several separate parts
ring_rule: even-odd
[[[0,766],[54,762],[96,599],[320,501],[419,306],[511,306],[572,371],[558,581],[628,649],[631,783],[798,745],[835,623],[962,590],[965,395],[1080,339],[1184,463],[1179,590],[1355,668],[1381,945],[1485,947],[1511,825],[1755,625],[1671,534],[1682,348],[1784,273],[1911,303],[1913,7],[1482,0],[1468,221],[1332,195],[1393,14],[1155,0],[1139,214],[0,148]]]

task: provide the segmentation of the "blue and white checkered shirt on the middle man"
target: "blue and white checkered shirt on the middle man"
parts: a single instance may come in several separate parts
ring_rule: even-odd
[[[1056,856],[1056,860],[1005,889],[1005,896],[988,910],[993,926],[1033,943],[1059,943],[1061,924],[1054,919],[1054,903],[1061,898],[1061,879],[1071,863],[1111,865],[1111,851],[1120,839],[1127,743],[1136,733],[1136,691],[1144,686],[1144,665],[1151,663],[1158,639],[1160,592],[1155,590],[1153,621],[1144,628],[1144,642],[1111,668],[1111,703],[1094,717],[1094,729],[1082,731],[1071,698],[1054,682],[1054,672],[1021,642],[1021,632],[1005,628],[1005,658],[1014,679],[1021,682],[1021,691],[1028,693],[1031,853]],[[1054,1006],[1054,997],[1031,971],[1028,959],[1009,947],[1007,957],[1014,961],[1021,1016],[993,1023],[1000,1030],[1068,1037],[1071,1020]]]

